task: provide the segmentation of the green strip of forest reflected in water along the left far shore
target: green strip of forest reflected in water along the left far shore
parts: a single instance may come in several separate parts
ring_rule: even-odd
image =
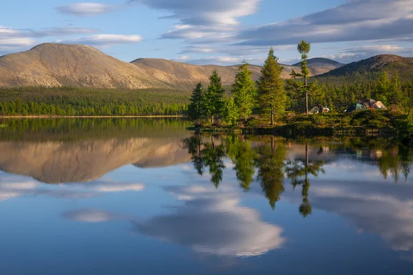
[[[166,137],[187,131],[179,118],[0,118],[0,140],[78,141]]]

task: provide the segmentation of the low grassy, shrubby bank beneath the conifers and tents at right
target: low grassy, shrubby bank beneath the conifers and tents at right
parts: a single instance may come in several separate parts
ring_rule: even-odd
[[[251,118],[246,122],[238,122],[235,127],[208,126],[204,131],[242,131],[242,133],[282,136],[381,136],[409,143],[413,139],[413,115],[381,110],[359,111],[352,114],[288,114],[280,115],[274,126],[266,120]]]

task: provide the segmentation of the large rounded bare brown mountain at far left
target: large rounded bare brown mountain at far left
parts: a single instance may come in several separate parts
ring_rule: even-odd
[[[44,43],[0,57],[1,86],[74,86],[140,89],[160,85],[140,69],[94,47]]]

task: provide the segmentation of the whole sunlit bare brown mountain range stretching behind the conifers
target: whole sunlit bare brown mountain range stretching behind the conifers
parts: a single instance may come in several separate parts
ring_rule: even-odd
[[[323,74],[342,64],[325,58],[308,61],[310,75]],[[299,65],[284,65],[283,78]],[[253,78],[260,66],[251,65]],[[27,52],[0,56],[0,87],[94,87],[113,89],[192,89],[207,83],[216,69],[224,85],[231,85],[238,65],[191,65],[164,59],[139,58],[131,63],[104,54],[86,45],[43,43]]]

